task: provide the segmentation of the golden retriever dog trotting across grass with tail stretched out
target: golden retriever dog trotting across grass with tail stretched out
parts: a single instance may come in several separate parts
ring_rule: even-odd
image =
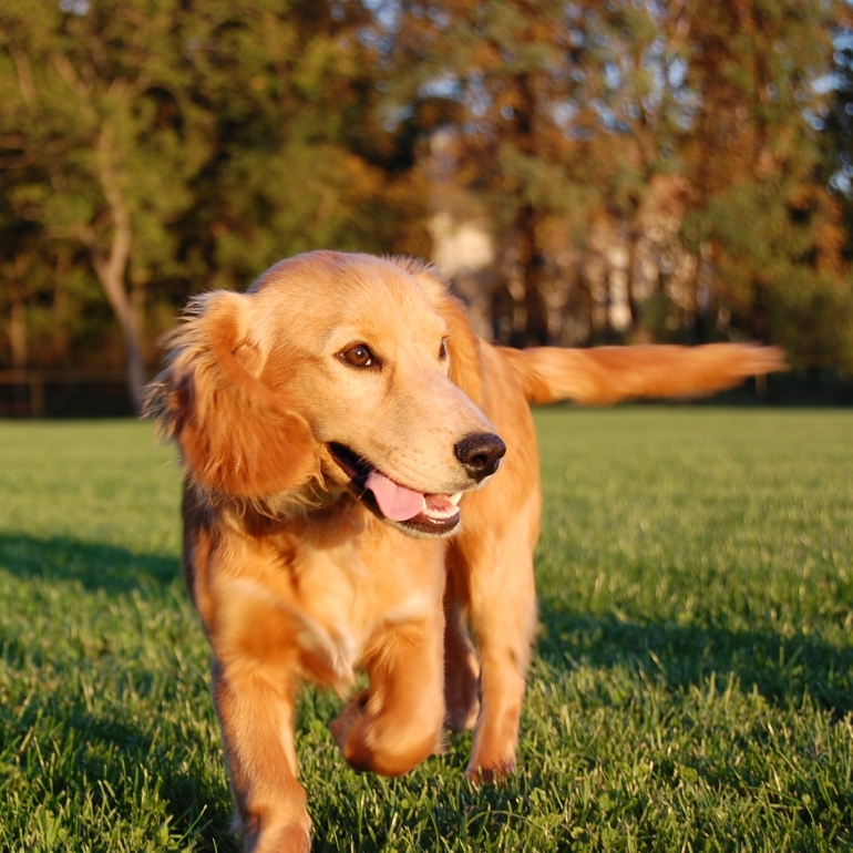
[[[405,773],[444,728],[475,727],[467,775],[512,771],[536,624],[530,402],[697,394],[782,367],[748,345],[495,347],[428,266],[332,251],[196,298],[169,343],[147,410],[186,471],[186,584],[255,853],[310,846],[304,681],[346,693],[367,672],[331,724],[353,768]]]

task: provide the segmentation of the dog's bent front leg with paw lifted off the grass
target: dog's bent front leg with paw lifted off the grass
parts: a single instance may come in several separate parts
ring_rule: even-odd
[[[370,687],[332,723],[357,770],[402,775],[441,746],[444,721],[443,616],[383,628],[369,644]]]

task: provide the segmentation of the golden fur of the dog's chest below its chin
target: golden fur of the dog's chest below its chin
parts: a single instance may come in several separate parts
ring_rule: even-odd
[[[289,521],[226,514],[204,565],[191,549],[187,569],[199,605],[217,614],[208,634],[270,675],[296,656],[304,677],[343,691],[380,631],[441,612],[441,541],[413,543],[346,502]]]

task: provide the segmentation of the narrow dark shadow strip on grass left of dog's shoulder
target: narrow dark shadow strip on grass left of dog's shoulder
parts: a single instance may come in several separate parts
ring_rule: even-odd
[[[85,589],[110,593],[162,586],[181,574],[178,559],[171,555],[141,554],[70,536],[10,533],[0,534],[0,569],[19,577],[76,580]]]

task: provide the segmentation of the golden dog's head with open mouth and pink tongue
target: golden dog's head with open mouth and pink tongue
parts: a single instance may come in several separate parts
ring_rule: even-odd
[[[505,452],[474,402],[464,308],[414,261],[300,255],[249,292],[195,299],[171,346],[147,409],[191,477],[224,495],[274,501],[321,483],[409,534],[441,535]]]

